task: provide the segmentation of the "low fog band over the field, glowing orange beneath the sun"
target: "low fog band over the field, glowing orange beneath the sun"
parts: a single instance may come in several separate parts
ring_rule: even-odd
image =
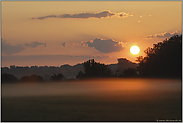
[[[121,99],[155,99],[181,93],[181,80],[91,79],[81,81],[2,84],[2,97],[93,96]]]

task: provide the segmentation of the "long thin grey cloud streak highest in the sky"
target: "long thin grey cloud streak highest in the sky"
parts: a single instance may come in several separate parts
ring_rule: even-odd
[[[128,17],[128,16],[133,16],[130,15],[129,13],[126,12],[120,12],[120,13],[114,13],[110,12],[109,10],[104,10],[102,12],[98,13],[79,13],[79,14],[61,14],[61,15],[47,15],[47,16],[42,16],[42,17],[37,17],[37,18],[32,18],[32,19],[40,19],[44,20],[47,18],[81,18],[81,19],[89,19],[89,18],[106,18],[106,17],[111,17],[114,15],[118,15],[119,17]]]

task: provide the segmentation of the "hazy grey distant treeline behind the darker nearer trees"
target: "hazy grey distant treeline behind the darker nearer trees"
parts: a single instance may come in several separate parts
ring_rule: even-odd
[[[71,78],[76,78],[76,75],[80,72],[80,76],[83,76],[84,74],[84,67],[83,63],[78,63],[74,66],[70,66],[68,64],[61,65],[60,67],[58,66],[15,66],[11,65],[9,67],[1,67],[1,73],[7,73],[7,74],[13,74],[17,78],[21,78],[23,76],[27,75],[40,75],[44,78],[45,81],[51,80],[51,76],[53,73],[59,74],[62,73],[65,78],[71,79]],[[121,58],[118,59],[118,63],[115,64],[109,64],[106,65],[110,70],[111,73],[114,74],[116,73],[116,70],[120,70],[120,74],[122,74],[124,69],[128,68],[135,68],[138,66],[136,63],[130,62],[126,58]]]

